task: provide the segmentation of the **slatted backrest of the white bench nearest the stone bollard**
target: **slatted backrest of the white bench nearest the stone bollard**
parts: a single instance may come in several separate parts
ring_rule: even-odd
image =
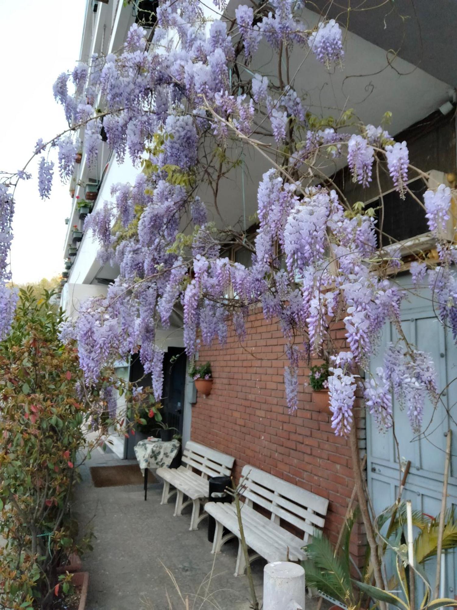
[[[248,506],[258,504],[271,512],[272,522],[282,525],[282,520],[302,530],[305,544],[314,529],[324,527],[328,500],[316,493],[248,464],[241,471],[239,489]]]

